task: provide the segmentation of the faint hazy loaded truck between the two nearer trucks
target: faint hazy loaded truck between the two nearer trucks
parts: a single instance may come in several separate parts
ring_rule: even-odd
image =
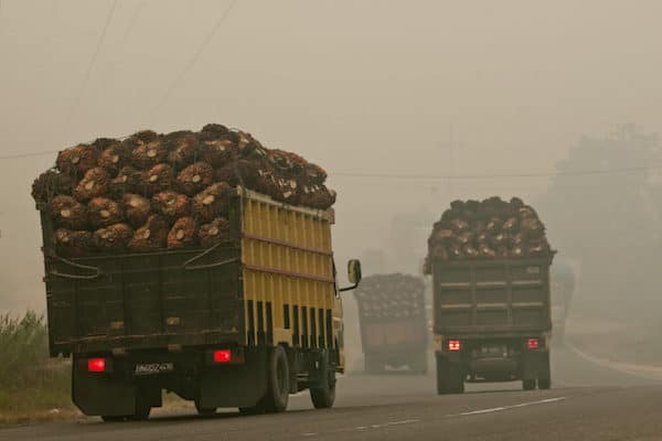
[[[427,372],[424,292],[424,281],[414,276],[378,275],[362,280],[354,297],[366,373],[381,373],[387,366]]]

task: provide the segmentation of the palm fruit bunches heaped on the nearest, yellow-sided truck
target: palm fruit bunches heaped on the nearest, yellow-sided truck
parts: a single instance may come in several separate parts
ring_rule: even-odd
[[[63,256],[211,247],[229,239],[236,186],[275,201],[328,209],[327,173],[222,125],[199,132],[100,138],[61,151],[32,185]]]

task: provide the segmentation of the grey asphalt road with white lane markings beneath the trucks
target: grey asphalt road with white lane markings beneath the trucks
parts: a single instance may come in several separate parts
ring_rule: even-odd
[[[146,422],[97,419],[0,429],[0,440],[662,440],[662,384],[617,373],[569,349],[553,353],[554,387],[469,385],[439,397],[428,376],[350,375],[334,409],[308,395],[281,415],[239,417],[232,409],[197,417],[188,409]]]

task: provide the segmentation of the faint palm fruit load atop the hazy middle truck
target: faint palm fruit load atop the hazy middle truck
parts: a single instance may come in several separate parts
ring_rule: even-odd
[[[406,319],[425,315],[425,284],[414,276],[375,275],[354,290],[359,314],[365,319]]]

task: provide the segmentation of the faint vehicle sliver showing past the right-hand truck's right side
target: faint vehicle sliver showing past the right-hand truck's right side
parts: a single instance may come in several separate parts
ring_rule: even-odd
[[[555,346],[559,346],[564,343],[566,320],[575,291],[575,271],[568,261],[557,258],[552,267],[551,279],[552,323],[554,325],[552,342]]]

